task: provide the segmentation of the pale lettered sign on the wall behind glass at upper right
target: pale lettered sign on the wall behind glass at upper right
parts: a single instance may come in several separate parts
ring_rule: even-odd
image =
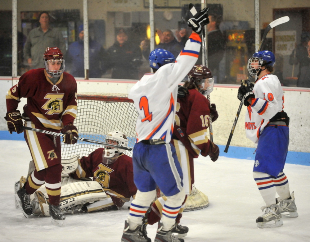
[[[290,55],[296,43],[296,30],[276,31],[276,53],[282,55]]]

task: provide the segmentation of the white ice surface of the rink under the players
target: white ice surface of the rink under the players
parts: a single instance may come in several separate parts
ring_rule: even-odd
[[[31,156],[25,141],[0,140],[0,241],[121,240],[128,206],[119,211],[67,215],[62,227],[50,217],[28,219],[15,208],[14,182],[27,175]],[[195,160],[195,186],[209,197],[209,207],[184,212],[189,241],[310,241],[310,167],[286,164],[284,172],[294,191],[298,218],[283,218],[278,228],[259,229],[255,219],[265,205],[252,177],[253,161],[219,157]],[[148,226],[154,241],[157,225]]]

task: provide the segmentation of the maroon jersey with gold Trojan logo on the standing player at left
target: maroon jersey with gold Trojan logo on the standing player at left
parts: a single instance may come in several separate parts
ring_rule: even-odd
[[[27,98],[23,117],[38,128],[61,130],[77,114],[77,84],[66,72],[53,84],[45,68],[27,71],[7,92],[8,112],[17,109],[20,98]]]

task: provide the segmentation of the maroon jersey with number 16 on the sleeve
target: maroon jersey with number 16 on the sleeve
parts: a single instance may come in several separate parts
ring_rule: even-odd
[[[200,153],[207,156],[210,146],[207,136],[210,103],[196,89],[188,91],[184,98],[177,98],[173,135],[181,140],[194,158],[197,158]]]

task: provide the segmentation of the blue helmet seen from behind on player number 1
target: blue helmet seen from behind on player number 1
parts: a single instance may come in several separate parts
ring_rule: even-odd
[[[157,48],[151,51],[149,61],[152,68],[159,69],[160,66],[175,62],[175,58],[170,51]]]

